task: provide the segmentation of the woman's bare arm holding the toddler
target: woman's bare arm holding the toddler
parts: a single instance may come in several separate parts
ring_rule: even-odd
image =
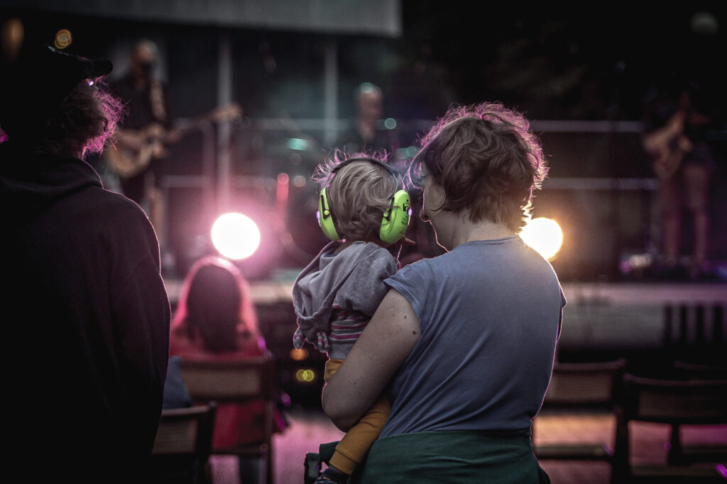
[[[356,345],[323,391],[323,407],[348,430],[382,394],[419,340],[419,318],[409,300],[389,290]]]

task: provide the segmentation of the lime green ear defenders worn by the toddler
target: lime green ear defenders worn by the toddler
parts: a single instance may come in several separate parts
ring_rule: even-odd
[[[338,171],[342,166],[353,163],[354,161],[367,160],[371,163],[377,163],[384,166],[393,176],[396,172],[389,165],[374,160],[372,158],[353,158],[338,165],[332,173]],[[389,199],[389,206],[384,211],[381,226],[379,227],[379,239],[385,244],[393,244],[403,237],[406,228],[409,226],[409,217],[411,216],[411,200],[409,194],[405,190],[398,190],[393,197]],[[318,225],[326,237],[332,240],[340,240],[338,231],[336,230],[335,218],[329,206],[326,189],[321,190],[321,196],[318,198]]]

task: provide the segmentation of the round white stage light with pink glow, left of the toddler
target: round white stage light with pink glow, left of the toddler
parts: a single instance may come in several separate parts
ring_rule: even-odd
[[[212,224],[212,244],[227,258],[248,258],[260,245],[260,229],[241,213],[225,213]]]

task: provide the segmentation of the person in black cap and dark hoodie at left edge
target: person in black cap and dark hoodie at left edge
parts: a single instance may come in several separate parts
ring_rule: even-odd
[[[83,161],[119,120],[100,86],[111,68],[34,46],[0,78],[4,435],[33,482],[142,482],[161,414],[169,300],[156,235]]]

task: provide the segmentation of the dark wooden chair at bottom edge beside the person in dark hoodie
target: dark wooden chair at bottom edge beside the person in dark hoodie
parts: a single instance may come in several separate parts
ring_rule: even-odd
[[[217,405],[166,409],[150,458],[155,483],[212,483],[209,454]]]

